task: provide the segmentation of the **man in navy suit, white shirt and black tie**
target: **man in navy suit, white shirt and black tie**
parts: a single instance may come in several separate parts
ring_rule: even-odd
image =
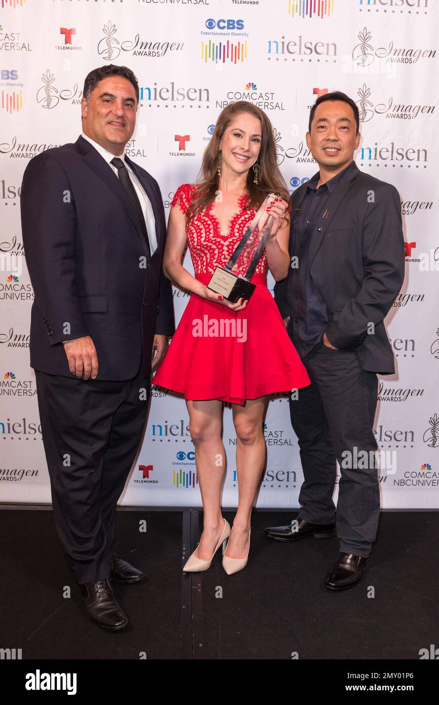
[[[130,69],[91,71],[82,135],[31,159],[21,197],[54,520],[90,617],[113,631],[128,618],[112,582],[145,577],[112,550],[116,504],[174,332],[159,185],[124,154],[138,103]]]

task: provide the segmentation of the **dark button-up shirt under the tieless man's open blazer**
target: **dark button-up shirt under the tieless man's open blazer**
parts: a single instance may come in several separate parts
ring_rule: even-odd
[[[306,357],[323,338],[331,316],[328,307],[309,274],[309,243],[316,219],[323,215],[326,202],[350,164],[317,188],[320,172],[307,183],[304,199],[298,211],[291,212],[292,252],[297,257],[297,269],[292,269],[288,287],[290,323],[288,332],[300,357]]]

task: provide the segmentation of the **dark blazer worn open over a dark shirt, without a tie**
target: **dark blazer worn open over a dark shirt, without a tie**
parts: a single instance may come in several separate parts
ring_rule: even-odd
[[[302,184],[292,194],[290,254],[297,209],[306,188]],[[390,183],[360,171],[352,161],[316,218],[309,245],[309,276],[331,314],[328,341],[340,350],[357,350],[361,367],[370,372],[395,372],[383,320],[400,293],[404,264],[399,193]],[[274,287],[283,318],[292,317],[294,310],[292,276],[290,268]]]

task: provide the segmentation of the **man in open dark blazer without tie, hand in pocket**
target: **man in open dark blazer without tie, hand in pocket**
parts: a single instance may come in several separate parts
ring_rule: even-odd
[[[311,386],[290,398],[304,472],[299,515],[265,533],[278,541],[332,536],[338,460],[340,555],[325,581],[332,590],[359,582],[376,538],[376,374],[395,372],[383,320],[404,280],[400,196],[359,171],[359,140],[357,105],[341,92],[319,97],[307,133],[319,171],[292,195],[292,262],[275,286]]]

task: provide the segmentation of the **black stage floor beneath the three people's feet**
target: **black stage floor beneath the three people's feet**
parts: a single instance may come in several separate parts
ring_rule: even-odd
[[[232,523],[233,513],[224,516]],[[148,580],[114,584],[131,623],[111,633],[82,607],[51,511],[3,508],[0,646],[22,649],[23,659],[418,660],[439,645],[439,512],[381,513],[366,574],[340,593],[323,587],[336,537],[283,544],[262,534],[293,517],[255,511],[249,563],[235,575],[220,551],[208,571],[184,575],[197,510],[118,511],[116,553]]]

